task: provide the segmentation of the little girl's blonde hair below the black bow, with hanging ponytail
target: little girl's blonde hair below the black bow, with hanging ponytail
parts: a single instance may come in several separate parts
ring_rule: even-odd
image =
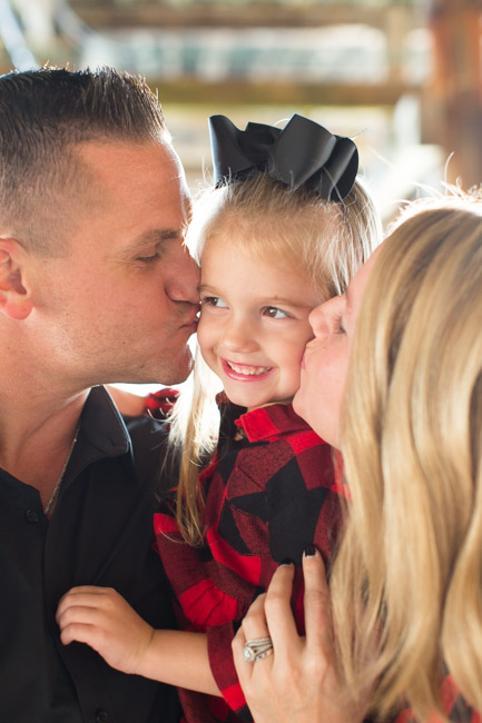
[[[305,274],[325,299],[344,293],[380,239],[378,216],[361,181],[355,181],[343,202],[333,202],[303,188],[289,190],[258,172],[207,191],[198,200],[187,245],[199,264],[212,242],[287,264]],[[189,544],[199,544],[204,536],[198,473],[217,442],[218,390],[219,380],[197,353],[190,394],[180,395],[170,432],[180,465],[177,522]]]

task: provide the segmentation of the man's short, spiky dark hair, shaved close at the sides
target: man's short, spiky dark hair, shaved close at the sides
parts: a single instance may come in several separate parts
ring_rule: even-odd
[[[69,206],[88,190],[75,146],[163,136],[169,140],[160,105],[140,77],[51,67],[0,77],[0,231],[57,255],[62,199]]]

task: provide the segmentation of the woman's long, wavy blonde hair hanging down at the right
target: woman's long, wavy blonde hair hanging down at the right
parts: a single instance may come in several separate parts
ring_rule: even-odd
[[[482,710],[482,202],[411,209],[381,249],[351,355],[352,504],[331,584],[351,691],[442,714],[449,666]],[[354,604],[360,601],[360,605]]]

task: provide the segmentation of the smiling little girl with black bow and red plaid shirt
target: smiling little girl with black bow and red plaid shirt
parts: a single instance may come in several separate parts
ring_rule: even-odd
[[[58,611],[65,644],[86,642],[114,667],[189,689],[180,691],[185,716],[204,723],[250,720],[230,644],[277,565],[299,565],[309,545],[331,557],[341,509],[332,452],[291,402],[309,311],[344,293],[378,241],[350,139],[299,116],[284,130],[246,131],[217,116],[212,140],[217,188],[188,234],[201,266],[204,361],[187,408],[184,395],[177,405],[179,483],[155,521],[183,632],[153,631],[105,588],[75,588]],[[215,394],[200,383],[206,365],[224,389],[218,433]],[[298,578],[303,631],[301,600]],[[257,641],[253,660],[270,652]]]

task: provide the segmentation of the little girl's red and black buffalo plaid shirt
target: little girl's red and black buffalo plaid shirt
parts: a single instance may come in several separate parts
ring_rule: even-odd
[[[286,558],[297,566],[292,602],[303,632],[303,551],[314,544],[329,559],[341,522],[332,449],[291,405],[243,414],[224,398],[220,408],[219,445],[200,475],[205,545],[180,542],[170,503],[155,519],[179,625],[207,633],[210,666],[224,695],[180,691],[189,723],[252,720],[233,663],[233,636]]]

